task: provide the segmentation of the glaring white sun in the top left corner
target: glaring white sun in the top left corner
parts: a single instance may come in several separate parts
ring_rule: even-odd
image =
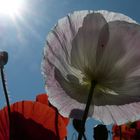
[[[22,10],[22,0],[0,0],[0,14],[15,17]]]

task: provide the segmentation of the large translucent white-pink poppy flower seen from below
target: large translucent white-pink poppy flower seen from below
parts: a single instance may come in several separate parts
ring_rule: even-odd
[[[108,11],[77,11],[49,33],[42,71],[50,102],[81,118],[91,81],[89,117],[104,124],[140,119],[140,25]]]

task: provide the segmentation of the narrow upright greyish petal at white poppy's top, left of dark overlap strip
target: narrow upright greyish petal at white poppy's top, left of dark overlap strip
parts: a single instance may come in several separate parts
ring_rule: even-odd
[[[85,73],[96,68],[98,38],[106,20],[100,13],[88,14],[72,42],[71,64]]]

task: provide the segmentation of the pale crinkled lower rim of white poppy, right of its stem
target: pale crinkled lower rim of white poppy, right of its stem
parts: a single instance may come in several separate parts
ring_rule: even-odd
[[[140,118],[140,102],[125,105],[94,106],[93,117],[104,124],[124,124]]]

